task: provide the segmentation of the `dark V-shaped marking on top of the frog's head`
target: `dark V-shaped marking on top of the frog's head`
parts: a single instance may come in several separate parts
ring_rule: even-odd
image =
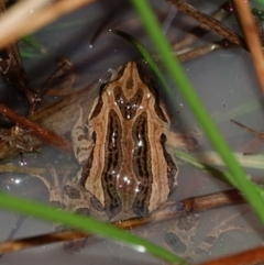
[[[117,102],[124,120],[131,120],[135,117],[136,110],[143,99],[143,90],[139,88],[131,99],[127,99],[120,86],[114,87],[114,102]]]

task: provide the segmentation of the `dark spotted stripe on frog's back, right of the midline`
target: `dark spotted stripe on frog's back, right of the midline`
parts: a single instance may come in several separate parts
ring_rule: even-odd
[[[133,172],[140,183],[139,191],[134,198],[132,210],[136,216],[146,216],[148,213],[150,199],[152,194],[152,158],[151,145],[148,142],[147,114],[142,112],[135,120],[132,129],[134,141]]]

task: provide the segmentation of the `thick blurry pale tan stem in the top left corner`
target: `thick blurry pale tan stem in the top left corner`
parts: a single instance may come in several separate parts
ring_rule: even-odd
[[[95,0],[62,0],[48,5],[44,10],[37,12],[34,10],[32,15],[29,15],[30,10],[38,9],[48,0],[29,0],[21,1],[2,16],[0,21],[1,35],[0,48],[18,41],[23,35],[30,34],[42,26],[55,21],[74,10],[81,8],[85,4],[91,3]],[[38,5],[35,2],[40,2]]]

